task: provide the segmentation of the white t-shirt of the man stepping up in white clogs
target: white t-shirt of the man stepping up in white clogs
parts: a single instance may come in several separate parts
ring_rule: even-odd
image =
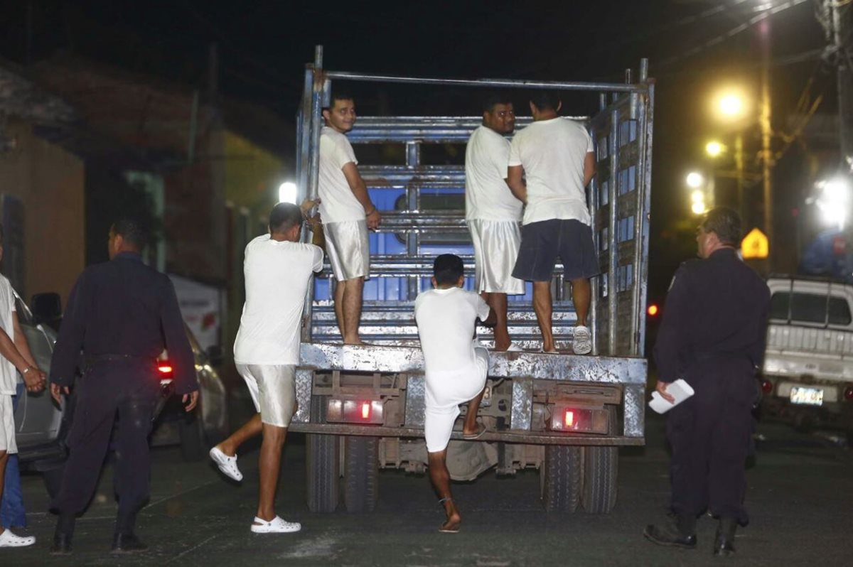
[[[299,335],[311,275],[322,269],[313,244],[258,236],[246,246],[246,303],[234,342],[238,364],[299,364]]]

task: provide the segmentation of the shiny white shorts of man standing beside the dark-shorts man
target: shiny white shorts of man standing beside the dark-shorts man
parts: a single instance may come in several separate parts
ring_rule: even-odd
[[[474,244],[474,287],[478,292],[525,292],[525,282],[513,277],[519,257],[521,231],[515,221],[468,221]]]

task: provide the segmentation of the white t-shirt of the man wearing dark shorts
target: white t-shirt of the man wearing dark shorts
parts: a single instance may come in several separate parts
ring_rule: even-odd
[[[593,149],[583,124],[559,117],[537,120],[513,136],[509,165],[523,166],[527,180],[524,224],[552,218],[590,223],[583,161]]]

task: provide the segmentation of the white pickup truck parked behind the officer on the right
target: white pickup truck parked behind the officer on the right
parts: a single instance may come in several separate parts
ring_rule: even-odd
[[[853,432],[853,285],[770,276],[763,414]]]

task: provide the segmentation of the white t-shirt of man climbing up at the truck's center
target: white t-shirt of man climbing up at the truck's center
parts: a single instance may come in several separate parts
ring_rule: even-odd
[[[479,294],[461,287],[431,289],[415,299],[415,321],[421,337],[427,379],[433,373],[477,370],[473,336],[477,317],[485,320],[489,305]]]

